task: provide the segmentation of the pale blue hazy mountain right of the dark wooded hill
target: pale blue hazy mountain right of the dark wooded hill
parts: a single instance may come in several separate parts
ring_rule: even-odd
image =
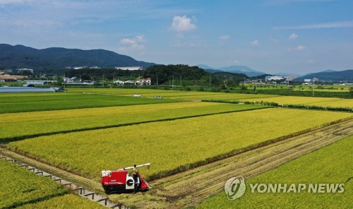
[[[205,71],[208,71],[210,73],[215,73],[215,72],[220,72],[220,71],[224,71],[224,72],[229,72],[229,73],[244,73],[246,74],[246,76],[260,76],[263,75],[265,73],[261,72],[261,71],[256,71],[253,70],[251,68],[249,68],[248,66],[227,66],[227,67],[222,67],[222,68],[213,68],[204,64],[198,64],[198,67],[205,69]]]

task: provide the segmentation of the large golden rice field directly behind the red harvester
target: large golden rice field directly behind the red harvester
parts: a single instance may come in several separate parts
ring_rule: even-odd
[[[352,114],[258,109],[28,138],[8,148],[96,180],[105,169],[151,162],[153,169],[143,173],[154,179],[348,117]]]

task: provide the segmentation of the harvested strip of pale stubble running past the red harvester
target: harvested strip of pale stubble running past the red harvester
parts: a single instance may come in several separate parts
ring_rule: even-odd
[[[183,208],[198,205],[208,197],[222,192],[225,181],[231,177],[243,176],[245,179],[251,179],[351,135],[353,135],[353,117],[185,172],[150,181],[152,189],[144,193],[112,194],[107,197],[115,203],[136,208]],[[10,150],[0,151],[13,159],[76,182],[96,193],[104,194],[101,184],[97,181],[32,160]]]

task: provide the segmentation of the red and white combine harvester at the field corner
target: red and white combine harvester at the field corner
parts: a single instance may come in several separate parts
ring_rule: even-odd
[[[149,169],[150,163],[136,165],[136,168],[144,166]],[[143,179],[140,172],[137,172],[137,175],[134,177],[131,172],[128,172],[128,169],[133,169],[133,167],[126,167],[114,171],[102,171],[101,183],[104,191],[106,193],[147,191],[151,188],[147,181]]]

